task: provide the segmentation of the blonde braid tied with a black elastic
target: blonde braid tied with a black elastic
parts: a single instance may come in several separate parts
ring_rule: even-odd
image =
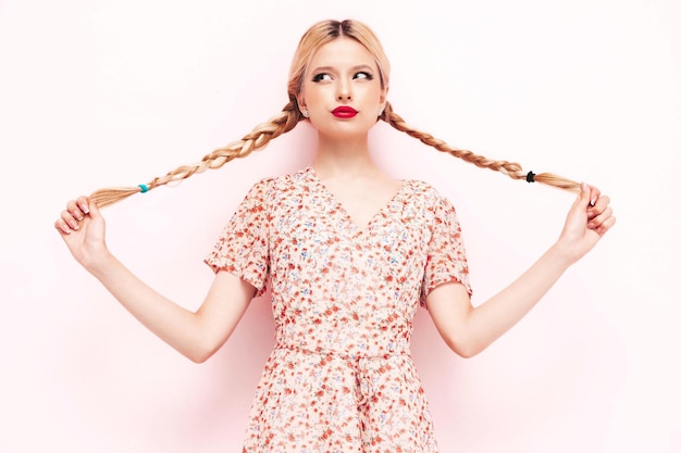
[[[401,116],[393,112],[393,106],[389,102],[386,103],[385,110],[383,111],[380,118],[396,128],[397,130],[400,130],[413,138],[417,138],[423,143],[433,147],[438,151],[446,152],[450,155],[454,155],[455,158],[459,158],[481,168],[488,168],[495,172],[500,172],[513,179],[542,183],[548,186],[574,192],[580,191],[579,183],[575,183],[568,178],[564,178],[562,176],[554,175],[550,173],[540,173],[535,175],[530,172],[530,174],[528,174],[518,163],[508,161],[493,161],[491,159],[475,154],[472,151],[454,148],[447,144],[445,141],[436,139],[430,134],[422,133],[409,126]]]

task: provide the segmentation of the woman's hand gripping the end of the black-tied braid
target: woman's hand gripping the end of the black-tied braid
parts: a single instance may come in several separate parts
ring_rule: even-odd
[[[558,244],[572,261],[578,261],[596,246],[615,225],[610,198],[600,190],[582,183],[582,191],[570,207]]]

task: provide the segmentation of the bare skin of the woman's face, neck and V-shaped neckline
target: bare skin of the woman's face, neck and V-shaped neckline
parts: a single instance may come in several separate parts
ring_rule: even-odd
[[[401,186],[375,166],[369,150],[369,130],[386,96],[373,56],[349,38],[331,41],[313,54],[298,96],[298,105],[318,130],[314,171],[360,228]],[[339,119],[332,114],[339,105],[359,113]]]

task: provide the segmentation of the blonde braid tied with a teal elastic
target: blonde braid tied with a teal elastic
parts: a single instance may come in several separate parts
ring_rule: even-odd
[[[110,187],[96,190],[90,194],[90,200],[98,207],[108,206],[121,201],[132,194],[146,192],[174,181],[182,181],[191,175],[202,173],[207,169],[220,168],[234,159],[246,158],[252,151],[264,148],[270,140],[292,130],[301,119],[301,114],[295,102],[288,102],[282,112],[270,118],[269,122],[256,126],[250,134],[244,136],[240,140],[231,142],[230,144],[219,148],[207,154],[200,162],[193,165],[179,166],[164,176],[156,177],[149,184],[136,187]]]

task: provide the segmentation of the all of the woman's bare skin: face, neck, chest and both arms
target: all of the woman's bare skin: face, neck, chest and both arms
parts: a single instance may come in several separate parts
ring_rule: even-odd
[[[388,203],[401,184],[380,172],[369,152],[369,130],[385,106],[386,95],[371,53],[349,38],[335,39],[313,54],[298,95],[298,104],[309,112],[319,134],[314,171],[359,227]],[[331,112],[338,105],[359,113],[337,118]],[[556,242],[517,280],[476,307],[460,284],[431,291],[429,313],[449,348],[463,357],[473,356],[516,325],[615,225],[609,201],[595,187],[582,184]],[[54,227],[74,259],[127,311],[197,363],[224,344],[256,293],[250,284],[219,272],[196,312],[172,302],[109,251],[104,219],[87,197],[69,201]]]

